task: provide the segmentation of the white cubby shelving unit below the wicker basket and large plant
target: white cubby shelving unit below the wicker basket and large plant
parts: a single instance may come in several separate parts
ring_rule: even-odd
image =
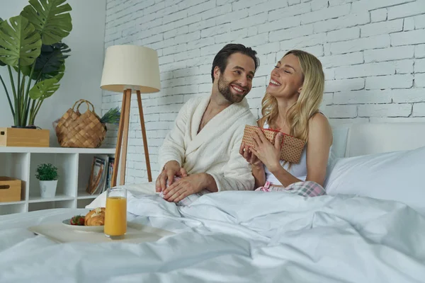
[[[52,208],[84,208],[98,196],[86,192],[91,163],[94,156],[105,155],[115,156],[115,149],[0,147],[0,176],[22,180],[21,201],[0,202],[0,215]],[[35,178],[40,163],[52,163],[58,168],[60,178],[53,198],[40,197],[40,186]]]

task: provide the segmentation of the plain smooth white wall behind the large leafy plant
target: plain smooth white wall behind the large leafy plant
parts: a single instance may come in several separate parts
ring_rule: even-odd
[[[64,38],[71,48],[71,55],[65,61],[66,72],[60,81],[59,90],[46,99],[40,108],[35,124],[50,130],[50,146],[57,146],[57,138],[52,122],[61,117],[74,105],[75,101],[84,98],[95,105],[96,112],[101,115],[101,75],[104,57],[104,36],[106,0],[69,0],[72,7],[72,32]],[[0,17],[4,20],[18,16],[25,0],[0,0]],[[6,67],[0,67],[0,74],[8,82]],[[9,93],[11,88],[9,86]],[[81,107],[81,112],[85,108]],[[6,93],[0,87],[0,127],[13,125],[13,117],[8,106]]]

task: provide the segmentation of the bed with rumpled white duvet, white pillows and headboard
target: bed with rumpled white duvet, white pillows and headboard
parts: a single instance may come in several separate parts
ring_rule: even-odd
[[[334,128],[328,195],[220,192],[176,207],[128,186],[129,220],[174,234],[55,243],[0,216],[0,282],[425,282],[425,123]],[[95,200],[96,201],[96,200]]]

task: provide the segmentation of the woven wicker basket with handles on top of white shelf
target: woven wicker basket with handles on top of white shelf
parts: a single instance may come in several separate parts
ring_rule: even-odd
[[[86,103],[87,110],[79,112],[81,104]],[[77,110],[74,110],[77,105]],[[91,107],[91,110],[90,110]],[[96,148],[101,146],[106,136],[106,126],[94,112],[89,101],[80,99],[60,118],[55,127],[57,141],[62,147]]]

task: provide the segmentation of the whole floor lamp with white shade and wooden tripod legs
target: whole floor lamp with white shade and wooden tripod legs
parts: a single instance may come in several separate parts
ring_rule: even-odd
[[[145,119],[143,118],[142,98],[140,93],[156,93],[161,88],[159,80],[158,54],[148,47],[136,45],[113,45],[106,49],[101,88],[106,91],[123,93],[118,139],[115,149],[115,163],[111,186],[117,185],[118,167],[120,168],[120,185],[125,183],[125,163],[127,161],[128,129],[130,125],[130,101],[132,93],[137,94],[140,125],[142,126],[143,146],[147,166],[147,178],[152,182],[152,173],[147,147]],[[123,152],[121,153],[121,148]],[[121,155],[122,154],[122,155]],[[122,161],[120,161],[122,156]]]

